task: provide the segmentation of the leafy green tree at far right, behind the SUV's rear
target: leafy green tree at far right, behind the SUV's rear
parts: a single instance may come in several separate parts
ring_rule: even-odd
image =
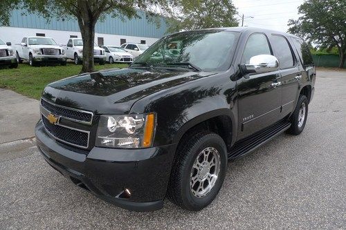
[[[289,20],[289,32],[304,37],[319,48],[336,46],[343,68],[346,57],[346,1],[307,0],[299,6],[298,20]]]

